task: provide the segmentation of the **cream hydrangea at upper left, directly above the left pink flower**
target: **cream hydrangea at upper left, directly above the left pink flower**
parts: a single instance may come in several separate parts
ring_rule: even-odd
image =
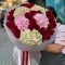
[[[29,12],[30,10],[26,6],[18,6],[15,9],[13,16],[16,17],[17,15],[24,15],[26,12]]]

